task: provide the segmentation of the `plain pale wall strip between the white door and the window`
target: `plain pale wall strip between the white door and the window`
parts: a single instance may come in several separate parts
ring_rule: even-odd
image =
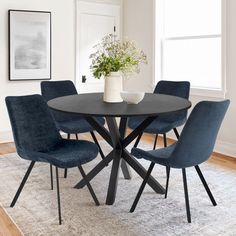
[[[154,3],[152,0],[125,0],[123,4],[123,36],[137,42],[148,57],[140,74],[125,80],[126,90],[152,91],[154,56]]]

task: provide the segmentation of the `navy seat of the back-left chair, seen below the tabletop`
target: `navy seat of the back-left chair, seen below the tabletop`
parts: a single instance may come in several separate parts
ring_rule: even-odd
[[[105,119],[102,117],[96,118],[101,125],[105,124]],[[66,120],[57,122],[59,130],[67,134],[86,133],[93,130],[91,125],[83,117],[78,117],[74,120]]]

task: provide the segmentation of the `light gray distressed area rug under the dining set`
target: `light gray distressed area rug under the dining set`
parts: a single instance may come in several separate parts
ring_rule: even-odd
[[[109,151],[104,143],[103,149]],[[99,161],[100,157],[84,165],[86,172]],[[141,162],[148,167],[149,162]],[[202,165],[218,203],[213,207],[195,170],[187,169],[191,224],[186,220],[180,170],[171,171],[167,199],[146,187],[134,213],[129,213],[129,209],[141,184],[141,178],[134,171],[132,180],[125,180],[120,172],[113,206],[104,204],[111,164],[100,172],[91,181],[101,203],[97,207],[86,188],[73,188],[81,179],[78,169],[70,169],[67,179],[63,178],[61,170],[63,224],[59,226],[56,191],[50,190],[49,166],[46,164],[36,163],[16,206],[9,207],[28,166],[29,162],[15,153],[0,157],[0,203],[24,235],[236,235],[236,172],[230,170]],[[164,184],[165,168],[156,166],[153,176]]]

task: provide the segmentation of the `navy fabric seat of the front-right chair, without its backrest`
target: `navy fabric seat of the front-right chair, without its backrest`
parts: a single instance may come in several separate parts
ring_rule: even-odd
[[[132,148],[131,154],[138,159],[146,159],[154,163],[158,163],[163,166],[171,167],[171,155],[175,149],[176,143],[166,148],[159,148],[151,151],[144,151],[139,148]]]

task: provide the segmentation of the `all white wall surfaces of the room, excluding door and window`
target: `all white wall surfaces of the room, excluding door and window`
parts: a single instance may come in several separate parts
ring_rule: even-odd
[[[96,0],[87,0],[96,1]],[[97,0],[118,4],[121,0]],[[10,124],[4,99],[8,95],[40,93],[40,81],[8,81],[8,9],[52,12],[52,78],[74,80],[75,37],[74,0],[1,0],[0,1],[0,142],[9,139]],[[148,65],[136,79],[126,81],[128,89],[152,91],[154,83],[154,0],[125,0],[124,36],[137,41],[148,55]],[[227,94],[231,106],[220,130],[216,150],[236,156],[236,1],[227,0]],[[191,97],[193,104],[206,97]]]

